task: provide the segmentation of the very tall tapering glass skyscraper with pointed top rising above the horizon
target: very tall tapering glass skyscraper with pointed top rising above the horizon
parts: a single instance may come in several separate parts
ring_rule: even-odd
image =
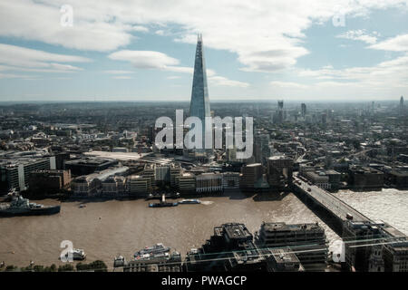
[[[191,92],[191,102],[189,104],[189,115],[199,117],[202,122],[202,150],[205,145],[205,117],[210,117],[209,110],[209,88],[207,86],[206,63],[202,46],[202,35],[199,34],[197,42],[196,60],[194,63],[194,76]]]

